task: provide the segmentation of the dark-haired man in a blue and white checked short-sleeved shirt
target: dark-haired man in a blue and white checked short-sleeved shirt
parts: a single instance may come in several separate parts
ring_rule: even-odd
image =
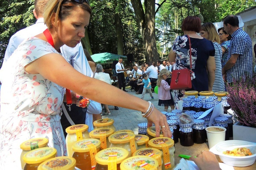
[[[224,30],[231,35],[232,40],[228,50],[229,60],[222,69],[225,82],[232,84],[233,79],[252,76],[253,73],[253,53],[252,40],[250,36],[239,28],[237,16],[228,15],[223,19]]]

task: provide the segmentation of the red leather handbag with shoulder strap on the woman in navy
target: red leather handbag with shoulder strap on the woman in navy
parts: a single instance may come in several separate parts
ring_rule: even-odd
[[[183,90],[183,89],[192,88],[191,73],[193,73],[193,71],[191,70],[192,69],[191,43],[190,43],[189,36],[188,36],[188,41],[189,41],[190,69],[186,68],[186,69],[172,71],[172,79],[170,83],[170,87],[172,90]]]

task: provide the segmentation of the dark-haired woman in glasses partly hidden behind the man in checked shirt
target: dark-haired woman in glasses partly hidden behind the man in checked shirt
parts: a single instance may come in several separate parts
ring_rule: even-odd
[[[222,57],[221,57],[221,66],[222,68],[228,61],[228,50],[230,46],[231,35],[227,34],[224,30],[224,27],[218,29],[219,40],[221,41]]]

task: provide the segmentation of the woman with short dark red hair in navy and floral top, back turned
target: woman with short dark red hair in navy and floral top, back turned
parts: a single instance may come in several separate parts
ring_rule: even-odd
[[[212,90],[215,79],[215,60],[213,43],[197,33],[201,29],[201,20],[196,16],[188,16],[182,22],[183,36],[177,36],[169,53],[170,62],[175,62],[174,70],[190,67],[189,40],[191,41],[192,71],[195,79],[192,80],[190,90],[208,91]],[[174,101],[184,98],[185,90],[174,90]]]

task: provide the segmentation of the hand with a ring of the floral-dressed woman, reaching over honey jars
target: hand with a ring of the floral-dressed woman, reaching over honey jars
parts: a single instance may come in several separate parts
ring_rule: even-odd
[[[156,108],[153,109],[152,114],[147,118],[147,127],[151,127],[153,123],[156,126],[156,137],[160,136],[160,126],[162,128],[164,137],[172,137],[166,116],[159,112]]]

